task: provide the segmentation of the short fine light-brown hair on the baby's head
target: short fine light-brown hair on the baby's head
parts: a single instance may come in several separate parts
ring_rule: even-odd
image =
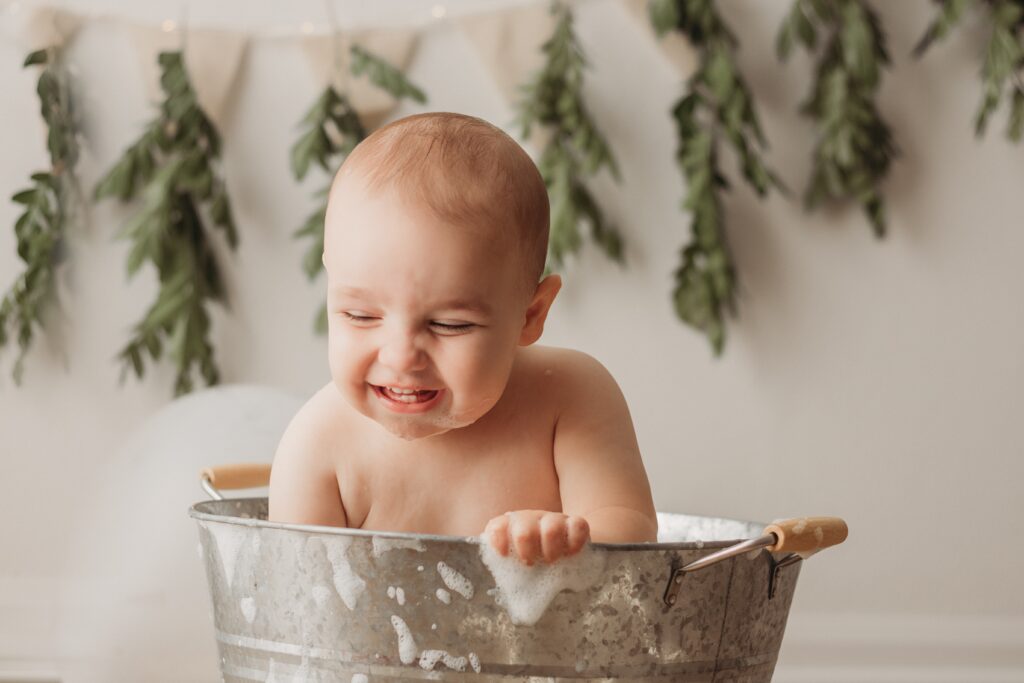
[[[532,160],[503,130],[463,114],[406,117],[360,142],[338,179],[353,173],[371,191],[395,188],[442,220],[506,232],[519,247],[532,294],[548,250],[548,193]]]

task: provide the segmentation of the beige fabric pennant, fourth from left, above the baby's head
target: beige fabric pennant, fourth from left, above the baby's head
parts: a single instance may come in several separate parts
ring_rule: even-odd
[[[541,48],[555,30],[555,16],[548,6],[541,3],[470,14],[455,23],[495,79],[505,101],[515,106],[522,99],[522,86],[544,68]],[[544,126],[535,126],[529,143],[543,150],[550,137]]]

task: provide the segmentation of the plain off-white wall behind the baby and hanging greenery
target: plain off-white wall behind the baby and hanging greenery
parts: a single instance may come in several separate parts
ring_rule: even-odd
[[[504,4],[446,2],[450,15]],[[796,106],[808,62],[781,66],[772,48],[788,3],[721,4],[742,44],[769,161],[802,188],[813,135]],[[1002,137],[1002,112],[986,138],[972,135],[980,22],[914,60],[930,3],[874,4],[895,59],[881,110],[902,153],[886,184],[890,237],[876,241],[855,209],[808,215],[796,200],[761,202],[737,182],[726,210],[740,316],[715,359],[676,321],[669,298],[688,230],[668,116],[681,84],[618,4],[581,3],[588,102],[624,177],[594,186],[625,232],[629,267],[586,251],[564,274],[544,341],[596,355],[618,379],[660,509],[849,521],[847,544],[803,569],[778,680],[1024,680],[1024,146]],[[180,15],[167,0],[68,6],[155,24]],[[338,7],[362,24],[431,20],[429,3],[413,0]],[[27,48],[6,10],[4,197],[46,163],[37,74],[19,68]],[[327,22],[319,2],[241,0],[193,3],[188,18],[264,34]],[[72,58],[89,146],[80,171],[91,187],[152,108],[113,24],[88,24]],[[513,119],[451,24],[433,23],[411,77],[429,109]],[[294,41],[254,40],[222,131],[242,236],[226,267],[231,311],[217,314],[214,330],[226,382],[308,395],[328,377],[324,340],[310,331],[322,293],[300,270],[305,245],[291,238],[321,179],[299,186],[288,165],[295,124],[318,89]],[[127,215],[104,203],[73,236],[67,325],[52,343],[67,362],[37,344],[16,388],[13,353],[0,356],[0,679],[5,668],[28,676],[49,667],[53,596],[75,575],[70,520],[89,501],[94,473],[169,400],[169,370],[121,386],[113,361],[155,294],[148,271],[126,281],[126,245],[112,241]],[[15,217],[14,205],[0,202],[0,226]],[[18,272],[5,227],[0,286]]]

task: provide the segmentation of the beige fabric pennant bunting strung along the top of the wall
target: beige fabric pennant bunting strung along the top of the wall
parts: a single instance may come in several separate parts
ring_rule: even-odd
[[[618,0],[636,17],[643,33],[655,42],[669,62],[683,78],[696,65],[696,55],[677,32],[658,39],[646,19],[646,0]],[[223,130],[236,80],[250,40],[263,33],[225,31],[202,27],[182,27],[174,22],[144,25],[116,16],[81,14],[59,8],[38,6],[23,31],[32,49],[62,46],[74,39],[86,22],[102,19],[120,25],[129,35],[141,62],[142,78],[148,96],[161,98],[160,69],[157,55],[164,50],[182,50],[188,77],[200,105]],[[542,68],[541,47],[552,34],[555,19],[547,2],[530,2],[510,7],[452,16],[452,23],[466,38],[486,73],[494,79],[507,104],[515,106],[521,86]],[[349,51],[359,45],[406,71],[411,65],[421,35],[434,25],[415,27],[365,28],[310,33],[309,26],[295,27],[294,33],[275,29],[275,39],[294,39],[306,56],[317,88],[334,85],[348,95],[355,110],[371,129],[381,125],[396,105],[395,99],[375,87],[366,76],[352,77]],[[535,128],[531,146],[543,148],[548,132]]]

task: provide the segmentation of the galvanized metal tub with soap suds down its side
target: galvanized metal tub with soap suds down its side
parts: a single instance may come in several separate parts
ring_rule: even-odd
[[[683,573],[764,525],[659,514],[658,543],[594,544],[586,585],[516,624],[477,538],[281,524],[266,512],[265,498],[189,511],[229,682],[770,681],[802,564],[755,548]]]

